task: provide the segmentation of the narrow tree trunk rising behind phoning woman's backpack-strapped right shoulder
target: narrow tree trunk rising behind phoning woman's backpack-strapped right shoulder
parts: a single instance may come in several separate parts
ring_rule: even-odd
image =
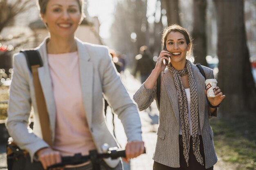
[[[193,23],[193,56],[195,63],[207,66],[205,57],[207,55],[207,41],[206,41],[206,7],[207,0],[193,0],[194,23]]]

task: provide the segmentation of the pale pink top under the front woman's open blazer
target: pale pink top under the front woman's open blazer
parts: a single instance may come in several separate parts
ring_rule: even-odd
[[[88,155],[96,146],[83,106],[78,53],[48,54],[48,61],[56,105],[53,148],[63,156]]]

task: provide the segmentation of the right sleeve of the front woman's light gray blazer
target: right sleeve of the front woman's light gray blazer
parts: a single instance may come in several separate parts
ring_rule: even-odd
[[[114,63],[111,60],[112,57],[108,54],[107,49],[105,56],[107,56],[104,57],[106,60],[101,62],[104,97],[121,120],[128,141],[142,141],[141,121],[137,107],[121,82],[121,78],[115,70]]]

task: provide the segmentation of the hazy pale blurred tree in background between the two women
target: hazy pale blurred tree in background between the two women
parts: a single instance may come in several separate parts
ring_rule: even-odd
[[[111,26],[111,41],[115,49],[128,55],[132,63],[139,47],[146,45],[147,0],[117,2],[115,20]]]

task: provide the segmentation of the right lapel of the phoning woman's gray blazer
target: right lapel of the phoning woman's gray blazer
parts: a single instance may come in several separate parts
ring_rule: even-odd
[[[206,95],[204,93],[205,80],[204,80],[204,76],[202,76],[202,74],[200,73],[196,65],[192,64],[192,70],[193,70],[193,75],[195,77],[196,88],[198,91],[198,116],[199,116],[199,122],[200,122],[200,129],[202,130],[202,127],[204,125],[205,101],[206,101]]]

